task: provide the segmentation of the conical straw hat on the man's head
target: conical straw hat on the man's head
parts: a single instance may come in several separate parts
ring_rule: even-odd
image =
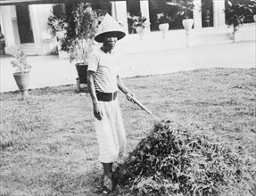
[[[108,13],[104,16],[102,23],[97,29],[97,33],[95,36],[95,41],[103,43],[103,39],[109,33],[115,33],[115,35],[120,40],[121,38],[126,36],[126,33],[121,28],[120,24],[117,20],[114,20],[111,15]]]

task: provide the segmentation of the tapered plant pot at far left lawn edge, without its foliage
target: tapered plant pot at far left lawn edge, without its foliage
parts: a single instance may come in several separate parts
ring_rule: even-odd
[[[29,90],[29,80],[30,80],[30,72],[16,72],[13,73],[13,77],[15,79],[15,82],[17,86],[19,87],[22,97],[28,96],[28,90]]]

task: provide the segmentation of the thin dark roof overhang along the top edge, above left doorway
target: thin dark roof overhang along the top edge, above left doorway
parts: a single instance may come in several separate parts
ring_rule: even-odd
[[[14,5],[14,4],[66,4],[66,3],[100,3],[100,2],[114,2],[126,0],[0,0],[0,5]],[[130,1],[130,0],[129,0]]]

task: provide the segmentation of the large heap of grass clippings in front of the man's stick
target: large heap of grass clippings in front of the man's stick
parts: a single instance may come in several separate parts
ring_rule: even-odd
[[[165,120],[117,167],[117,188],[128,195],[255,195],[252,171],[255,162],[241,147]]]

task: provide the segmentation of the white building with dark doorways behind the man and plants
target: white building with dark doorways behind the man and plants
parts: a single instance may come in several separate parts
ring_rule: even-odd
[[[141,12],[151,22],[151,31],[158,30],[155,25],[159,4],[163,0],[2,0],[0,2],[0,24],[4,35],[5,53],[20,46],[29,55],[52,53],[57,45],[56,37],[49,34],[48,17],[56,6],[63,4],[90,2],[98,8],[106,9],[117,18],[128,31],[128,12]],[[171,2],[171,0],[169,0]],[[172,0],[176,2],[176,0]],[[203,3],[202,3],[203,2]],[[202,4],[207,3],[207,17],[202,12]],[[225,26],[225,0],[194,0],[194,29]],[[55,12],[57,12],[55,9]],[[173,26],[176,27],[176,26]],[[177,27],[180,28],[180,27]],[[170,28],[171,29],[171,28]]]

